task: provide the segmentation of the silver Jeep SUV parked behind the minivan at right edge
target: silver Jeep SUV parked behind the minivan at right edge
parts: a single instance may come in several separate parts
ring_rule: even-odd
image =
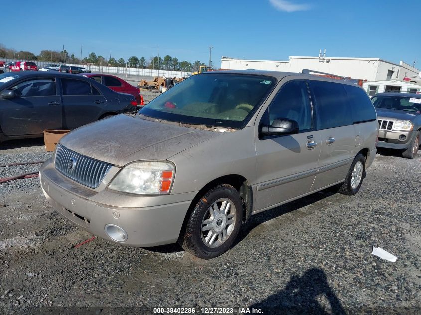
[[[415,158],[421,139],[421,95],[388,92],[371,100],[379,122],[377,147],[401,150],[404,158]]]

